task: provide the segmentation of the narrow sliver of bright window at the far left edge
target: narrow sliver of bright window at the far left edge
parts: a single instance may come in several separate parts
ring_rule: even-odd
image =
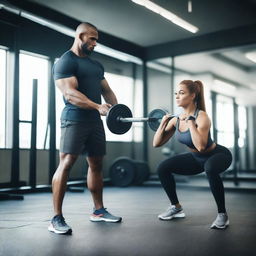
[[[0,49],[0,148],[6,147],[6,50]]]

